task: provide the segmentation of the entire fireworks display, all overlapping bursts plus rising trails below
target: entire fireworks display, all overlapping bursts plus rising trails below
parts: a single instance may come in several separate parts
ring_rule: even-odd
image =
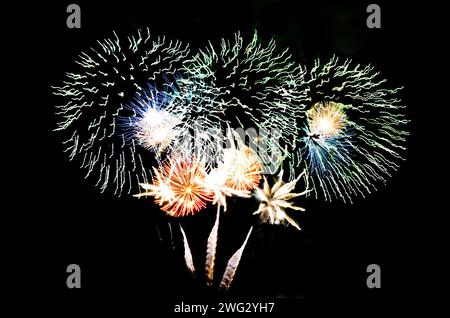
[[[386,88],[372,66],[333,57],[307,70],[256,32],[209,42],[193,55],[148,29],[113,35],[82,52],[73,72],[52,87],[60,99],[56,131],[69,159],[102,192],[120,196],[140,185],[135,197],[153,197],[173,217],[217,206],[206,244],[208,285],[228,197],[256,198],[253,214],[262,222],[300,230],[287,211],[304,211],[295,198],[312,192],[351,202],[403,160],[408,120],[400,89]],[[267,175],[276,171],[270,186]],[[302,178],[305,189],[294,192]],[[221,288],[230,287],[252,229],[226,264]],[[169,230],[172,237],[170,223]],[[180,230],[186,266],[195,273]]]

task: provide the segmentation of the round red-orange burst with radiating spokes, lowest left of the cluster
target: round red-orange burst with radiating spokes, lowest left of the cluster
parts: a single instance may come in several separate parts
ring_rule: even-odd
[[[205,188],[205,169],[192,159],[170,159],[163,167],[153,168],[153,184],[141,184],[146,190],[135,196],[153,196],[161,210],[171,216],[195,214],[212,200],[212,192]]]

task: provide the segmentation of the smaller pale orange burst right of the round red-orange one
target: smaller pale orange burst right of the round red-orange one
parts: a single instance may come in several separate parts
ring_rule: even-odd
[[[244,145],[226,149],[224,161],[228,166],[225,186],[238,191],[256,189],[261,181],[261,163],[253,151]]]

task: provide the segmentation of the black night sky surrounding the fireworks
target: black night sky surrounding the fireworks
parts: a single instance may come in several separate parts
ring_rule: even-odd
[[[5,78],[13,98],[7,107],[11,115],[3,119],[7,133],[14,135],[4,143],[11,160],[5,165],[11,177],[5,194],[12,204],[5,204],[4,212],[11,217],[4,225],[12,229],[5,239],[11,252],[5,273],[14,286],[10,294],[35,300],[32,309],[61,316],[88,304],[100,310],[167,312],[180,296],[202,303],[215,294],[185,270],[177,221],[172,222],[173,249],[168,219],[151,200],[99,194],[68,162],[52,132],[50,85],[63,80],[79,51],[112,30],[126,33],[148,26],[153,34],[189,41],[193,48],[257,29],[264,39],[275,36],[290,47],[306,65],[337,54],[371,63],[391,86],[405,87],[401,97],[411,135],[400,170],[378,192],[353,205],[306,200],[303,232],[257,226],[228,297],[285,297],[277,300],[278,310],[299,313],[306,307],[365,313],[418,305],[412,299],[427,293],[423,283],[431,275],[424,265],[429,257],[425,240],[438,196],[427,180],[433,169],[428,153],[433,124],[425,107],[433,85],[428,71],[439,63],[430,58],[428,42],[436,31],[430,12],[439,8],[377,2],[382,10],[377,30],[366,27],[370,2],[365,1],[77,3],[81,29],[67,29],[65,1],[19,5],[5,14],[11,18],[3,48],[11,58],[5,64],[16,75]],[[223,238],[222,253],[228,257],[248,229],[236,220],[231,214],[223,223],[223,233],[232,233]],[[199,267],[212,222],[213,217],[198,215],[183,224]],[[81,266],[80,290],[66,287],[66,267],[72,263]],[[372,263],[382,269],[379,290],[366,287],[366,267]]]

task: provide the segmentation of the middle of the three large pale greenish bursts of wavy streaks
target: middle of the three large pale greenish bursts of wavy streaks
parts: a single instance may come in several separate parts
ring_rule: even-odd
[[[256,32],[250,40],[236,33],[220,45],[209,42],[186,60],[183,72],[205,83],[204,95],[214,96],[214,111],[205,118],[243,129],[249,146],[258,148],[265,171],[277,170],[286,155],[284,144],[296,132],[292,114],[305,107],[299,89],[303,70],[288,49],[280,49],[273,39],[262,43]]]

